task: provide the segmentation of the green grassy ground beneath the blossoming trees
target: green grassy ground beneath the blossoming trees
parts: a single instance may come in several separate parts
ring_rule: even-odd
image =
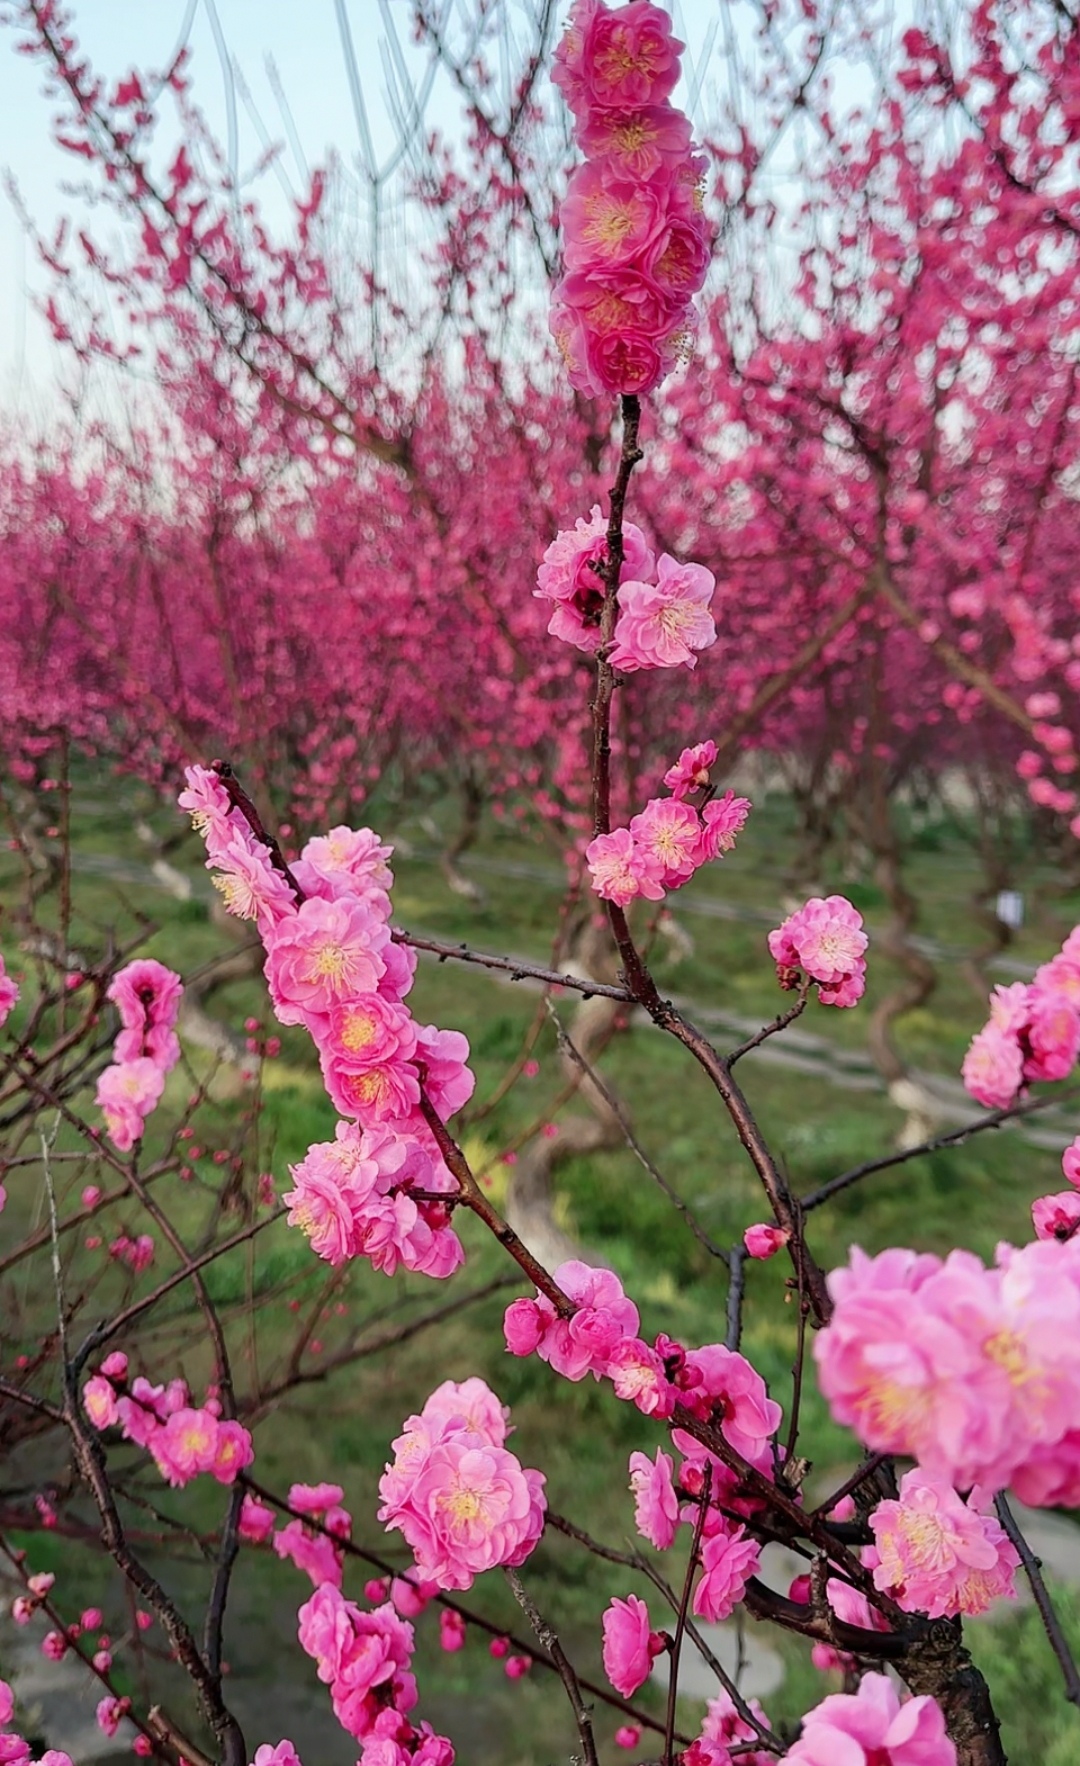
[[[169,812],[143,800],[131,782],[86,779],[74,800],[74,922],[72,941],[88,950],[99,950],[106,929],[127,936],[139,917],[150,917],[157,931],[146,943],[150,954],[191,973],[222,950],[222,932],[210,920],[205,872],[194,841],[175,858],[180,869],[191,872],[198,894],[180,902],[152,888],[145,876],[146,855],[132,837],[132,812],[139,807],[161,828],[169,825]],[[549,848],[529,841],[521,830],[492,825],[485,828],[475,855],[473,874],[482,881],[480,904],[450,894],[436,864],[429,857],[432,835],[415,819],[397,818],[397,826],[379,821],[374,805],[371,819],[388,834],[401,832],[411,857],[395,864],[395,918],[416,931],[446,940],[468,940],[487,950],[512,950],[547,957],[551,932],[561,901],[561,874]],[[764,917],[778,924],[782,876],[776,855],[784,851],[789,834],[789,809],[784,800],[769,800],[755,812],[739,851],[724,865],[711,867],[686,892],[692,902],[702,899],[739,909],[746,918],[715,918],[706,913],[679,915],[694,938],[694,955],[656,961],[665,989],[690,994],[706,1005],[720,1005],[764,1021],[780,1003],[771,964],[764,950]],[[116,862],[131,865],[131,874],[116,878],[108,867]],[[540,876],[512,876],[499,867],[528,867]],[[102,869],[104,867],[104,869]],[[911,879],[919,901],[926,902],[923,931],[944,947],[967,947],[971,940],[969,901],[978,887],[971,848],[956,826],[941,826],[923,834],[912,849]],[[1052,892],[1052,878],[1039,869],[1032,855],[1027,887],[1034,892],[1034,915],[1020,934],[1013,954],[1036,962],[1048,955],[1076,918],[1080,897],[1059,897]],[[881,924],[882,904],[874,888],[858,879],[822,878],[828,888],[847,888],[858,895],[870,927]],[[1045,894],[1041,894],[1045,887]],[[0,853],[0,901],[14,902],[19,894],[19,865],[14,855]],[[676,899],[678,913],[678,899]],[[46,909],[51,911],[51,909]],[[14,915],[0,925],[0,945],[12,966],[25,966],[18,954],[18,927]],[[891,985],[888,962],[870,966],[870,1005]],[[484,1106],[510,1061],[515,1060],[522,1037],[533,1019],[536,996],[515,989],[475,968],[422,962],[411,1000],[416,1015],[445,1026],[455,1026],[469,1035],[476,1068],[476,1104]],[[247,1014],[265,1017],[265,998],[258,982],[233,987],[215,1001],[215,1010],[238,1024]],[[858,1047],[865,1007],[856,1012],[828,1012],[812,1007],[803,1026],[817,1035],[831,1037],[836,1047]],[[941,982],[928,1008],[916,1014],[902,1030],[905,1054],[919,1065],[956,1074],[964,1047],[983,1021],[972,985],[964,980],[956,964],[941,964]],[[494,1109],[482,1114],[475,1127],[466,1127],[469,1151],[475,1162],[489,1167],[491,1181],[505,1185],[508,1167],[501,1162],[505,1148],[535,1121],[544,1121],[559,1088],[558,1063],[551,1031],[545,1030],[536,1045],[540,1072],[522,1079]],[[205,1074],[206,1058],[189,1051],[196,1074]],[[667,1180],[692,1204],[702,1226],[724,1245],[732,1243],[752,1220],[762,1215],[761,1194],[738,1139],[716,1107],[704,1077],[688,1056],[656,1033],[635,1028],[618,1037],[604,1056],[609,1083],[630,1102],[635,1132],[649,1150]],[[164,1118],[184,1106],[191,1077],[178,1075],[166,1098]],[[898,1127],[900,1114],[872,1091],[844,1091],[828,1086],[822,1077],[785,1072],[773,1067],[745,1068],[745,1084],[752,1104],[771,1139],[778,1157],[798,1190],[814,1189],[826,1178],[863,1158],[884,1153]],[[574,1107],[574,1106],[570,1106]],[[184,1187],[169,1178],[162,1199],[178,1220],[182,1231],[194,1234],[206,1210],[214,1185],[221,1181],[212,1162],[214,1150],[222,1150],[238,1132],[244,1098],[235,1088],[226,1088],[219,1100],[208,1106],[199,1125],[205,1151],[194,1162],[198,1180]],[[476,1114],[476,1111],[473,1111]],[[974,1114],[974,1111],[972,1111]],[[272,1169],[279,1189],[284,1187],[289,1158],[302,1155],[312,1139],[332,1132],[332,1111],[318,1084],[311,1049],[300,1033],[286,1033],[282,1056],[266,1068],[265,1111],[259,1123],[259,1167]],[[64,1144],[64,1141],[60,1143]],[[150,1146],[150,1155],[154,1148]],[[76,1176],[67,1180],[76,1189]],[[1016,1134],[983,1136],[969,1146],[909,1164],[902,1174],[872,1178],[822,1210],[814,1219],[812,1241],[819,1259],[829,1266],[847,1256],[852,1240],[868,1250],[886,1243],[912,1243],[919,1249],[946,1250],[955,1243],[969,1245],[983,1256],[992,1254],[1001,1238],[1022,1238],[1029,1227],[1029,1204],[1046,1189],[1061,1183],[1057,1160],[1052,1153],[1027,1146]],[[39,1187],[9,1181],[11,1206],[4,1217],[5,1243],[14,1243],[19,1227],[41,1210]],[[674,1337],[701,1342],[724,1333],[725,1282],[724,1272],[686,1233],[662,1194],[630,1151],[579,1160],[559,1176],[559,1219],[577,1238],[586,1256],[611,1263],[635,1294],[642,1309],[644,1330],[651,1335],[665,1330]],[[115,1220],[120,1229],[124,1208],[116,1204]],[[485,1241],[471,1222],[462,1236],[469,1254],[469,1268],[459,1282],[482,1286],[501,1273],[501,1263],[491,1241]],[[231,1317],[238,1365],[251,1372],[251,1356],[258,1355],[263,1377],[274,1367],[295,1332],[291,1302],[302,1307],[321,1305],[321,1266],[311,1257],[298,1234],[274,1227],[259,1240],[258,1256],[236,1252],[212,1272],[212,1291]],[[791,1363],[794,1326],[791,1310],[784,1305],[784,1270],[775,1264],[752,1266],[746,1305],[745,1349],[769,1379],[773,1395],[784,1404],[791,1393]],[[247,1330],[249,1284],[265,1300],[256,1314],[254,1332]],[[9,1284],[11,1286],[11,1284]],[[109,1298],[122,1293],[120,1279],[111,1273],[95,1293],[95,1307],[104,1310]],[[443,1289],[416,1279],[386,1284],[367,1270],[353,1272],[334,1296],[348,1309],[346,1321],[332,1314],[325,1323],[325,1349],[332,1353],[339,1340],[335,1333],[364,1319],[378,1321],[390,1303],[401,1302],[416,1309],[416,1296],[431,1305],[446,1298]],[[660,1443],[662,1432],[644,1422],[635,1411],[619,1406],[591,1381],[566,1386],[554,1379],[535,1360],[517,1362],[501,1349],[499,1317],[505,1294],[492,1296],[471,1310],[441,1323],[432,1333],[416,1337],[392,1355],[364,1360],[325,1381],[300,1386],[284,1404],[284,1416],[258,1430],[259,1476],[282,1487],[293,1478],[318,1480],[341,1476],[348,1501],[356,1517],[356,1538],[385,1545],[374,1510],[378,1506],[378,1476],[386,1459],[392,1436],[402,1418],[418,1404],[438,1379],[464,1377],[482,1372],[514,1408],[517,1429],[515,1446],[526,1464],[542,1466],[549,1478],[552,1508],[570,1513],[598,1538],[619,1545],[632,1531],[632,1506],[626,1492],[626,1455],[637,1448]],[[5,1305],[14,1310],[7,1317],[32,1342],[42,1328],[42,1296],[23,1284],[11,1287]],[[404,1314],[402,1314],[404,1316]],[[376,1328],[372,1324],[372,1328]],[[383,1328],[383,1326],[379,1326]],[[203,1351],[189,1333],[185,1369],[198,1377],[205,1365]],[[304,1367],[318,1372],[318,1355],[309,1351]],[[169,1372],[164,1369],[162,1372]],[[245,1372],[242,1372],[242,1381]],[[849,1468],[854,1459],[851,1438],[836,1430],[814,1385],[803,1395],[803,1441],[817,1475],[835,1468]],[[161,1498],[161,1487],[155,1489]],[[212,1492],[210,1492],[212,1494]],[[169,1505],[162,1499],[162,1506]],[[198,1498],[203,1501],[203,1496]],[[191,1515],[191,1499],[184,1512]],[[208,1501],[201,1517],[214,1524],[215,1505]],[[42,1542],[35,1542],[35,1558]],[[78,1582],[85,1579],[86,1593],[97,1593],[88,1565],[67,1554],[65,1568]],[[198,1565],[180,1570],[184,1586],[194,1600],[205,1581]],[[355,1582],[362,1577],[353,1572]],[[517,1623],[508,1591],[498,1577],[487,1579],[475,1593],[476,1605],[492,1614],[498,1623]],[[74,1582],[71,1584],[74,1586]],[[558,1535],[549,1535],[528,1568],[528,1586],[545,1614],[558,1625],[579,1660],[582,1671],[598,1676],[596,1616],[609,1593],[625,1593],[630,1586],[626,1572],[619,1572],[595,1558],[584,1556]],[[300,1579],[291,1566],[268,1558],[245,1554],[236,1582],[236,1618],[229,1634],[229,1657],[235,1671],[238,1706],[258,1717],[249,1729],[256,1740],[277,1740],[291,1732],[304,1754],[309,1738],[309,1757],[325,1766],[348,1762],[355,1750],[341,1738],[326,1718],[325,1697],[289,1642],[296,1602],[304,1598]],[[468,1596],[466,1596],[468,1598]],[[1025,1651],[1036,1649],[1029,1619],[1020,1621],[1008,1646],[997,1648],[995,1662],[1002,1665],[1027,1660]],[[1027,1626],[1027,1628],[1024,1628]],[[1004,1634],[1002,1634],[1004,1635]],[[773,1639],[775,1641],[775,1639]],[[805,1651],[787,1641],[780,1648],[789,1672],[780,1694],[769,1701],[776,1718],[796,1717],[801,1708],[821,1694],[821,1681],[805,1660]],[[1034,1655],[1032,1655],[1034,1660]],[[1039,1669],[1043,1672],[1043,1669]],[[296,1683],[305,1688],[300,1697]],[[1009,1717],[1018,1729],[1027,1724],[1027,1708],[1036,1709],[1036,1697],[1027,1688],[1036,1685],[1031,1674],[1009,1671],[1004,1678]],[[1038,1709],[1054,1694],[1050,1679],[1038,1681]],[[445,1657],[438,1651],[436,1623],[420,1625],[420,1687],[422,1711],[436,1724],[445,1724],[459,1738],[459,1757],[476,1766],[545,1766],[566,1759],[572,1750],[572,1727],[566,1720],[561,1692],[540,1676],[512,1687],[501,1676],[501,1667],[489,1662],[484,1644],[471,1641],[464,1655]],[[644,1695],[646,1701],[653,1694]],[[685,1722],[694,1724],[688,1709]],[[1032,1717],[1034,1720],[1034,1717]],[[1041,1715],[1039,1715],[1039,1720]],[[1055,1729],[1043,1734],[1045,1752],[1020,1750],[1016,1759],[1046,1759],[1054,1766],[1080,1755],[1080,1727],[1075,1713],[1055,1711]],[[286,1727],[291,1725],[291,1731]],[[614,1718],[600,1720],[604,1757],[619,1757],[611,1745]],[[1064,1740],[1062,1740],[1064,1738]],[[1061,1748],[1066,1752],[1061,1752]],[[1071,1747],[1073,1752],[1068,1752]],[[1059,1752],[1054,1752],[1054,1750]],[[621,1755],[625,1757],[625,1755]]]

